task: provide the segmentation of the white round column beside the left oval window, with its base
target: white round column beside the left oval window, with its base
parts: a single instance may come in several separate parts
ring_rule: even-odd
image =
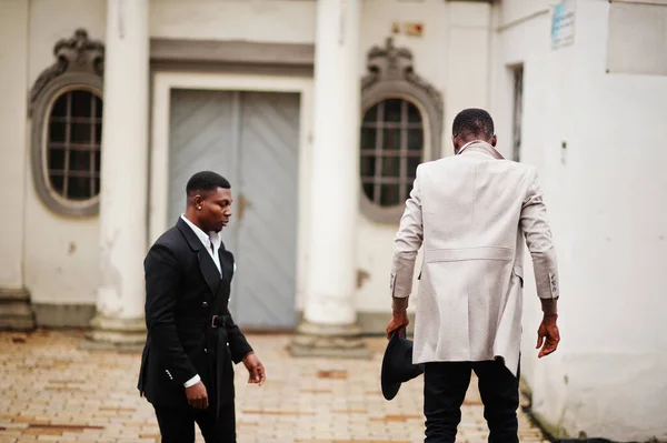
[[[139,344],[147,251],[148,0],[108,0],[100,193],[101,285],[89,335]]]

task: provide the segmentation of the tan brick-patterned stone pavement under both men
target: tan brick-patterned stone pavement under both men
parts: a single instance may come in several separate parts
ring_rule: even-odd
[[[159,442],[151,406],[136,389],[140,355],[79,349],[81,331],[0,332],[0,442]],[[299,359],[288,335],[248,335],[267,368],[261,387],[236,366],[241,443],[424,441],[420,376],[387,402],[379,387],[382,338],[369,361]],[[486,442],[476,381],[458,442]],[[545,442],[520,413],[521,442]],[[202,442],[197,431],[197,442]]]

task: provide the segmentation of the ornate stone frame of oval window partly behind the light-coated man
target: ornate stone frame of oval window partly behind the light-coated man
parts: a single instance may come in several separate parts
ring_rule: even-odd
[[[421,113],[424,127],[424,161],[441,157],[442,149],[442,94],[419,77],[412,64],[412,53],[407,48],[396,48],[394,39],[387,38],[385,47],[368,51],[368,73],[361,80],[361,113],[359,133],[366,112],[387,99],[410,101]],[[361,174],[358,175],[359,209],[369,220],[396,224],[405,211],[405,202],[396,207],[380,207],[364,192]]]

